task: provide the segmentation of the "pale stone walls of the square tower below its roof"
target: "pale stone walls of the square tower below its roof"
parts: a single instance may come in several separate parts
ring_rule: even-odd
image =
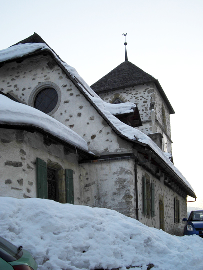
[[[154,102],[156,117],[156,132],[163,135],[163,148],[165,152],[172,152],[170,113],[154,83],[138,85],[130,88],[99,93],[105,101],[112,103],[115,98],[122,102],[131,102],[138,106],[142,126],[136,127],[144,134],[152,133],[151,103]],[[163,115],[164,113],[164,115]],[[163,117],[165,123],[163,122]]]

